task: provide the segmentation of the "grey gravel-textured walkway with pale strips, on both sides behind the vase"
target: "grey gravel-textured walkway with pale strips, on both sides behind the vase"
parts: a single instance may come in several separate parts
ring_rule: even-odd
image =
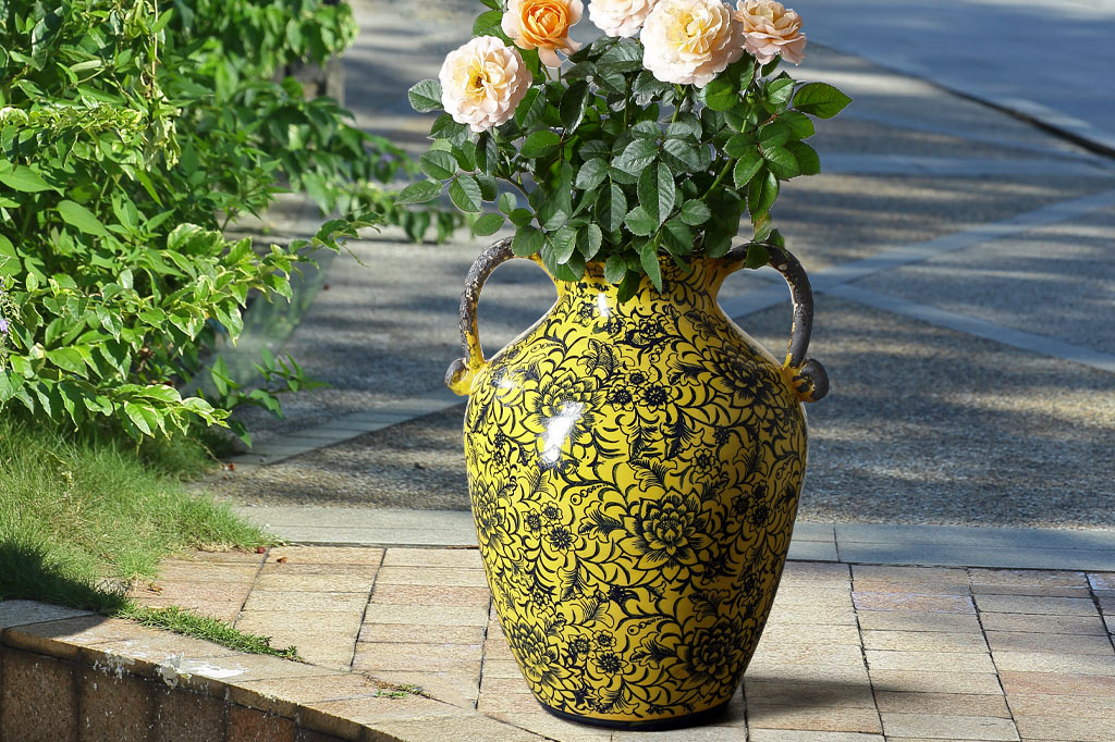
[[[406,89],[436,74],[476,4],[352,7],[348,104],[361,127],[417,150],[429,117],[409,111]],[[1115,528],[1113,160],[862,56],[809,49],[795,76],[855,100],[811,140],[825,174],[787,184],[775,213],[816,287],[811,354],[833,380],[809,408],[802,518]],[[297,326],[273,323],[331,388],[287,400],[284,420],[245,412],[256,447],[213,484],[220,497],[467,509],[463,400],[442,378],[483,243],[369,237],[318,277]],[[552,301],[517,263],[481,302],[489,351]],[[777,281],[737,275],[721,294],[776,355],[789,326]]]

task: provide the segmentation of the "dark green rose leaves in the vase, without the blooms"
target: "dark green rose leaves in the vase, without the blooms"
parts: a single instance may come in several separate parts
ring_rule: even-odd
[[[510,42],[500,3],[485,4],[493,10],[474,36]],[[621,299],[633,295],[642,274],[660,285],[661,255],[679,264],[724,255],[745,213],[754,241],[779,240],[769,211],[780,184],[820,170],[803,141],[814,134],[809,116],[830,118],[851,102],[832,86],[775,75],[777,60],[759,67],[746,53],[705,88],[655,79],[636,39],[600,38],[553,77],[521,53],[533,85],[513,118],[477,135],[443,114],[423,157],[429,179],[403,198],[432,201],[447,188],[458,208],[478,212],[495,203],[494,182],[504,180],[530,208],[524,215],[501,206],[477,221],[477,234],[495,232],[506,215],[516,255],[537,253],[565,281],[581,277],[586,261],[602,262]],[[439,109],[438,81],[418,82],[410,101],[420,111]]]

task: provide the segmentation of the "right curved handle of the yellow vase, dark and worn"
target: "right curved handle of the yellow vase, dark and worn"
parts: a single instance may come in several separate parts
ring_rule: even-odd
[[[782,273],[789,284],[794,301],[794,324],[791,329],[789,350],[783,371],[791,387],[803,402],[816,402],[828,393],[828,374],[821,363],[805,358],[809,350],[809,333],[813,330],[813,289],[805,269],[789,251],[770,243],[759,243],[770,255],[767,265]],[[748,244],[736,245],[725,255],[725,262],[734,263],[747,257]]]

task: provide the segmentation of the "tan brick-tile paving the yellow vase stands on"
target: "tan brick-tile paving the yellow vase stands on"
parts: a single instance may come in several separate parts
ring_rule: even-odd
[[[1115,572],[791,560],[729,713],[652,734],[582,728],[539,709],[491,613],[475,549],[198,554],[166,563],[152,588],[140,587],[139,599],[233,621],[297,645],[324,670],[419,685],[507,724],[493,740],[524,730],[570,742],[1115,739]],[[279,703],[313,681],[246,685]],[[370,726],[377,714],[390,717],[381,702],[352,697],[351,685],[319,680],[313,689],[337,716]],[[365,739],[360,724],[336,729]],[[399,739],[459,739],[436,729],[428,721],[425,734],[414,725]]]

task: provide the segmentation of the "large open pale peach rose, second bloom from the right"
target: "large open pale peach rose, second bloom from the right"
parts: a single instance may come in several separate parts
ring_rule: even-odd
[[[744,56],[741,29],[720,0],[659,0],[641,39],[642,65],[662,82],[702,88]]]

